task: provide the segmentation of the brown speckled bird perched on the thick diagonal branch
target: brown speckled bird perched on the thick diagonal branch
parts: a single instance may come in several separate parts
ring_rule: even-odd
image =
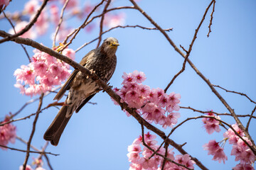
[[[100,79],[107,83],[114,74],[117,65],[117,56],[115,53],[117,52],[118,46],[119,42],[116,38],[106,38],[100,47],[88,52],[82,58],[80,64],[89,69],[90,72],[97,74]],[[67,90],[69,92],[63,106],[43,135],[43,138],[50,141],[53,146],[58,145],[60,136],[73,112],[78,113],[102,88],[90,79],[90,77],[75,69],[53,100],[59,101]]]

